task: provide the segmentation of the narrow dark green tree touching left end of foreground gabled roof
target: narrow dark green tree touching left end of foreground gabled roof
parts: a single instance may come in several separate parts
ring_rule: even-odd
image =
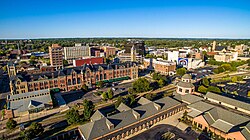
[[[89,120],[94,112],[95,105],[93,104],[92,101],[88,101],[87,99],[85,99],[83,100],[83,108],[84,108],[83,111],[84,118],[85,120]]]

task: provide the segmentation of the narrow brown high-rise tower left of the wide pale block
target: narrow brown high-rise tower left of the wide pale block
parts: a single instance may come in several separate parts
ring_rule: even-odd
[[[50,65],[56,67],[63,66],[63,48],[58,44],[49,47]]]

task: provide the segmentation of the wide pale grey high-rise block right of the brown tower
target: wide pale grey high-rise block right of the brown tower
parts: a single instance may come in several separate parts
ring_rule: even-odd
[[[74,47],[64,47],[64,59],[72,61],[82,57],[88,57],[90,50],[88,46],[83,46],[81,43],[75,44]]]

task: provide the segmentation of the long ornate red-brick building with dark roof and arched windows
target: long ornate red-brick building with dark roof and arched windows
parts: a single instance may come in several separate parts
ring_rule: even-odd
[[[136,63],[84,64],[54,72],[20,74],[10,77],[11,94],[59,88],[62,91],[81,89],[83,85],[95,86],[99,81],[113,82],[138,78]]]

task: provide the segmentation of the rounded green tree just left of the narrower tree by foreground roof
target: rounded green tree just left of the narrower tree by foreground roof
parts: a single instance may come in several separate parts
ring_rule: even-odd
[[[78,110],[75,110],[74,108],[71,108],[67,114],[66,114],[67,122],[69,124],[76,124],[80,122],[80,115]]]

